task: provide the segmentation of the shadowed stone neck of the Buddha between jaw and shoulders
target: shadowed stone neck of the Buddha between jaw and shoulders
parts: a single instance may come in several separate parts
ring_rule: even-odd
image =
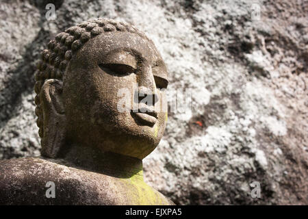
[[[142,160],[135,157],[72,144],[62,155],[62,159],[77,168],[92,172],[119,178],[137,177],[143,180]]]

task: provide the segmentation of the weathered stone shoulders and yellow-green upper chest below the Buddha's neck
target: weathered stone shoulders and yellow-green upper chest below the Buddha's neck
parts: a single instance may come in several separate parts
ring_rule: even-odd
[[[112,171],[89,171],[62,159],[38,157],[0,161],[0,170],[0,205],[172,204],[144,183],[142,171],[119,177]],[[55,185],[53,198],[46,195],[48,182]]]

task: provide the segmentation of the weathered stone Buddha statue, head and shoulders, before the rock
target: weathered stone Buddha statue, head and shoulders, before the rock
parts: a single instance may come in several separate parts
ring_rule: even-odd
[[[42,156],[0,162],[0,204],[173,204],[142,176],[167,120],[166,66],[149,38],[80,23],[49,42],[35,79]]]

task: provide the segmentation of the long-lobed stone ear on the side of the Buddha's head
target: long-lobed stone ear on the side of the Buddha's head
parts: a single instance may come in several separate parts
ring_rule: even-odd
[[[40,91],[44,126],[41,154],[45,157],[57,157],[65,142],[66,116],[62,101],[62,86],[62,81],[48,79]]]

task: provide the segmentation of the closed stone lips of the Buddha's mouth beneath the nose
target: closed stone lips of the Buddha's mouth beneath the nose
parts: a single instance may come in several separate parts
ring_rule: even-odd
[[[142,125],[149,125],[153,127],[157,121],[157,112],[150,111],[146,108],[140,108],[138,112],[131,112],[131,116],[137,120],[137,123]]]

